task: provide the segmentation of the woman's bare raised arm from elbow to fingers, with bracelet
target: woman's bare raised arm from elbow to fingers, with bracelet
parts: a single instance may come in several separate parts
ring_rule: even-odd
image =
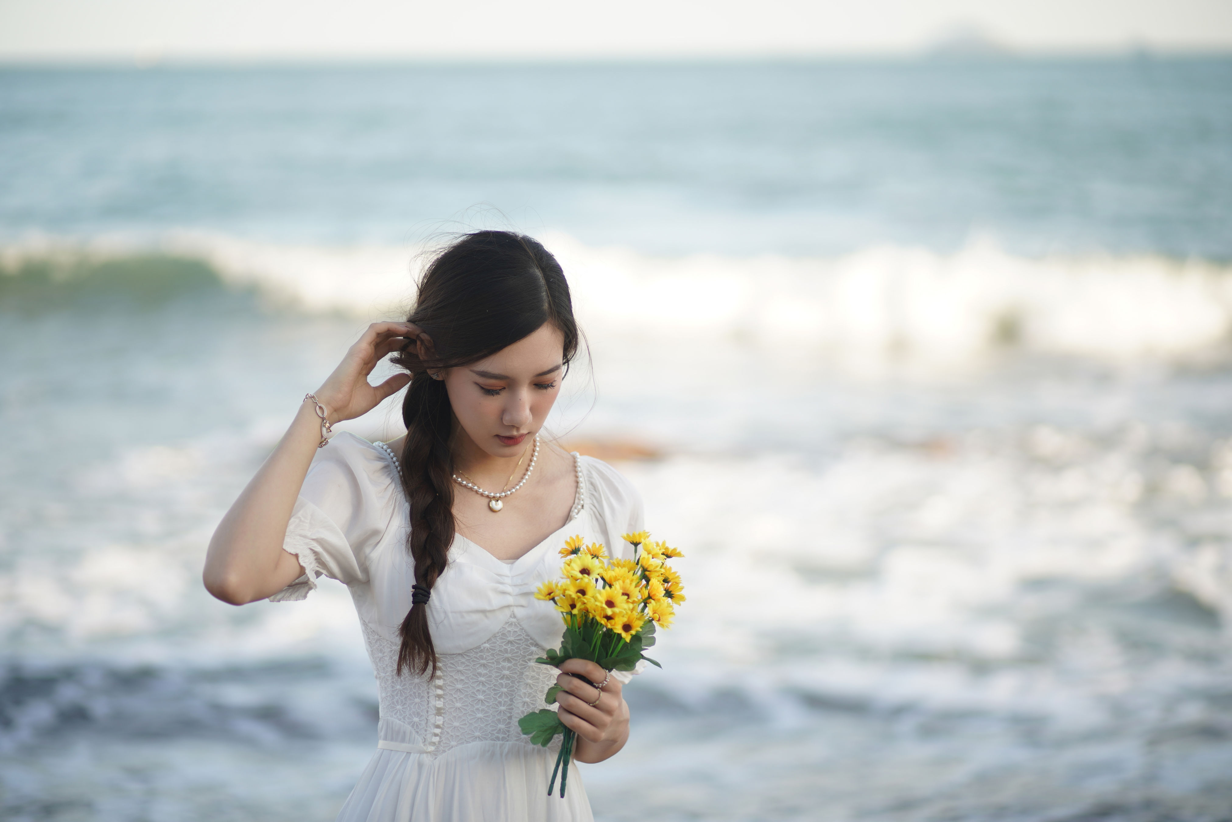
[[[410,323],[368,327],[315,391],[330,424],[361,417],[405,387],[410,381],[405,373],[394,375],[379,386],[368,385],[367,377],[386,355],[405,346],[408,339],[431,345],[428,335]],[[209,540],[202,580],[211,594],[224,603],[243,605],[276,594],[303,574],[299,561],[282,550],[282,541],[319,442],[320,419],[312,402],[306,399],[274,454],[232,504]]]

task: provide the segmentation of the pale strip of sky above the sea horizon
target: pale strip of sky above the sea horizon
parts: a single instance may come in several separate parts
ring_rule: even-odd
[[[1232,0],[0,0],[0,60],[1232,51]]]

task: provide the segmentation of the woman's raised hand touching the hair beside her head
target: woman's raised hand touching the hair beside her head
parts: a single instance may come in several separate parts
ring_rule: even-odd
[[[363,336],[355,341],[342,361],[322,387],[317,401],[329,413],[329,421],[362,417],[410,382],[410,375],[395,373],[379,386],[368,385],[368,375],[387,355],[407,346],[408,341],[431,345],[431,339],[413,323],[372,323]]]

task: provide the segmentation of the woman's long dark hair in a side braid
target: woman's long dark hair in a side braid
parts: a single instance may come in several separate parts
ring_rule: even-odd
[[[413,346],[394,357],[411,373],[402,403],[407,444],[402,450],[403,489],[410,503],[408,550],[415,583],[431,590],[445,572],[453,542],[453,412],[445,383],[428,371],[468,365],[551,323],[564,336],[564,365],[578,351],[564,271],[537,240],[511,232],[464,234],[441,251],[419,281],[408,322],[432,339],[420,359]],[[428,605],[414,604],[402,621],[398,674],[436,672],[428,630]]]

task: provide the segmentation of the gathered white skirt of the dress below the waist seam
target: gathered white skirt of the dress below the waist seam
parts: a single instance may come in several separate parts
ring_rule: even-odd
[[[553,746],[554,747],[554,746]],[[593,822],[578,767],[547,795],[556,752],[472,742],[440,755],[378,749],[338,822]]]

